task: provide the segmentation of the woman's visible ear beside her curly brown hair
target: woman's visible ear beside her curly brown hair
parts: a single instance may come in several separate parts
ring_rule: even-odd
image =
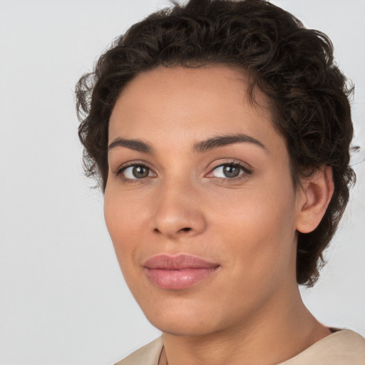
[[[297,192],[296,228],[299,232],[309,233],[321,222],[334,192],[331,166],[322,166],[301,183]]]

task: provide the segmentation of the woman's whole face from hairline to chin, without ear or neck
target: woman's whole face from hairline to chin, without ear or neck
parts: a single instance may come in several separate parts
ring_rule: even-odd
[[[227,66],[161,66],[110,118],[106,224],[128,287],[168,333],[245,324],[297,287],[287,148],[246,85]]]

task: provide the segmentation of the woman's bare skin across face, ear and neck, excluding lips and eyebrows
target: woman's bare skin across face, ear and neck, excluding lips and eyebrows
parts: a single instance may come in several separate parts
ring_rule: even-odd
[[[125,281],[163,331],[161,364],[278,364],[330,333],[302,303],[295,259],[297,232],[314,230],[327,208],[331,170],[294,189],[267,100],[256,91],[250,103],[246,86],[244,73],[227,66],[161,66],[128,83],[110,117],[110,144],[123,138],[153,149],[114,143],[104,207]],[[193,148],[237,134],[264,147]],[[121,171],[133,163],[148,175]],[[243,166],[237,178],[217,168],[231,163]],[[187,289],[161,289],[143,263],[163,253],[219,268]]]

